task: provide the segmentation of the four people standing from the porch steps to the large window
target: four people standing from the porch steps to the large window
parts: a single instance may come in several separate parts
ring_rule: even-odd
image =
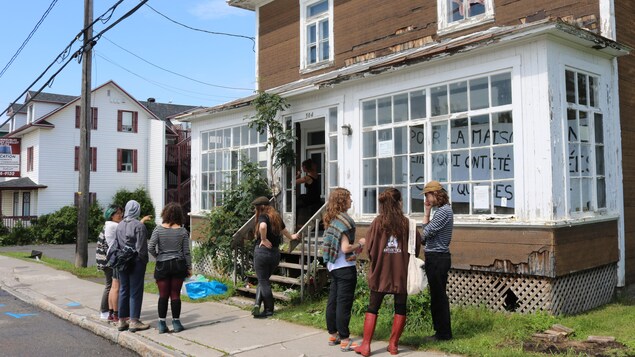
[[[446,293],[451,266],[450,241],[453,229],[453,212],[446,190],[438,181],[430,181],[424,187],[425,204],[423,234],[416,231],[416,254],[424,245],[425,273],[430,289],[430,310],[435,334],[425,339],[450,340],[450,304]],[[401,192],[388,188],[378,198],[379,214],[373,220],[365,238],[355,237],[355,222],[347,214],[351,208],[351,193],[345,188],[334,189],[328,198],[322,221],[326,231],[322,246],[323,258],[330,274],[330,291],[326,306],[328,343],[339,346],[342,352],[355,351],[369,356],[370,343],[375,331],[377,315],[386,295],[394,296],[394,317],[388,351],[398,354],[398,342],[406,325],[408,239],[409,220],[403,213]],[[256,247],[254,267],[258,277],[258,290],[254,317],[273,315],[273,295],[269,278],[278,266],[278,246],[282,236],[298,239],[289,233],[280,214],[269,199],[258,197],[252,202],[256,211]],[[432,216],[432,208],[436,212]],[[368,286],[370,301],[364,316],[363,340],[360,345],[350,338],[349,322],[357,285],[356,257],[364,246],[370,261]],[[264,311],[260,311],[260,299]]]

